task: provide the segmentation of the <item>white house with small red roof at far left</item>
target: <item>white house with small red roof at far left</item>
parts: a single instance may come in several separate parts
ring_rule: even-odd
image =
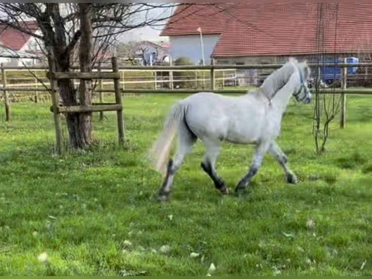
[[[40,34],[35,21],[25,21],[27,30]],[[0,62],[6,66],[32,66],[38,63],[41,44],[32,35],[0,24]]]

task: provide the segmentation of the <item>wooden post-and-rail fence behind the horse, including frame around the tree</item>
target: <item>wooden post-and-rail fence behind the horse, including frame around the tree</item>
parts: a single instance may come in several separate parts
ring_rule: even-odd
[[[341,79],[341,87],[340,88],[328,88],[322,90],[322,93],[329,94],[329,93],[337,93],[341,94],[342,98],[342,104],[341,104],[341,127],[345,127],[346,123],[346,96],[347,94],[372,94],[372,90],[360,90],[360,89],[347,89],[346,85],[346,80],[347,80],[347,68],[348,67],[372,67],[372,63],[339,63],[339,64],[308,64],[310,68],[312,68],[312,71],[317,70],[319,71],[323,67],[341,67],[342,68],[342,79]],[[9,100],[9,92],[34,92],[34,101],[38,101],[38,92],[44,92],[47,93],[48,96],[51,96],[52,104],[53,104],[53,114],[55,117],[56,121],[56,126],[59,126],[60,123],[58,123],[57,116],[60,113],[63,112],[92,112],[92,111],[100,111],[100,118],[103,118],[103,111],[105,110],[116,110],[118,113],[118,132],[119,132],[119,141],[121,141],[124,137],[124,128],[123,128],[123,121],[122,118],[120,119],[120,116],[122,114],[121,111],[121,96],[126,93],[156,93],[156,92],[161,92],[161,93],[196,93],[200,92],[201,89],[174,89],[173,86],[169,86],[170,89],[164,89],[160,88],[157,89],[157,83],[162,82],[162,83],[169,83],[173,84],[176,81],[182,81],[173,79],[173,73],[175,72],[197,72],[200,71],[202,75],[204,76],[203,79],[201,79],[203,82],[206,80],[209,82],[209,88],[203,88],[203,89],[208,89],[210,91],[216,92],[216,93],[246,93],[247,89],[246,88],[241,88],[241,89],[217,89],[216,88],[216,82],[219,80],[222,80],[222,88],[223,88],[223,79],[224,75],[222,74],[222,77],[216,77],[217,73],[222,71],[222,73],[226,71],[230,72],[237,72],[237,70],[247,70],[247,69],[278,69],[282,67],[282,64],[266,64],[266,65],[207,65],[207,66],[126,66],[126,67],[118,67],[116,63],[116,58],[113,57],[112,60],[113,63],[113,68],[108,68],[108,67],[102,67],[99,69],[94,69],[93,72],[91,73],[81,73],[81,72],[75,72],[71,71],[68,73],[61,72],[61,73],[56,73],[54,69],[47,69],[45,67],[30,67],[27,68],[27,70],[31,71],[37,71],[37,70],[42,70],[47,72],[53,73],[52,78],[48,82],[41,84],[38,80],[40,77],[34,77],[34,84],[21,84],[17,83],[16,86],[10,86],[7,84],[7,78],[6,78],[6,71],[9,70],[26,70],[24,67],[3,67],[1,64],[1,81],[2,81],[2,86],[0,87],[0,91],[3,92],[3,102],[5,105],[5,113],[6,113],[6,121],[9,121],[11,118],[11,108],[10,108],[10,100]],[[77,69],[73,69],[77,70]],[[109,72],[107,72],[109,71]],[[130,71],[139,71],[139,72],[161,72],[161,71],[168,71],[169,72],[169,79],[168,80],[161,80],[157,81],[156,80],[156,74],[155,74],[155,80],[154,81],[126,81],[125,80],[125,73],[130,72]],[[206,76],[206,78],[205,78]],[[74,79],[74,80],[79,80],[79,79],[91,79],[91,80],[99,80],[98,87],[94,90],[95,92],[98,92],[100,94],[100,103],[96,104],[94,106],[89,106],[89,107],[66,107],[66,106],[59,106],[59,99],[56,97],[57,94],[55,94],[57,88],[56,88],[56,80],[58,79],[63,79],[63,78],[69,78],[69,79]],[[102,82],[101,79],[113,79],[113,82]],[[187,80],[190,81],[190,80]],[[194,81],[194,80],[191,80]],[[152,82],[154,83],[153,88],[148,88],[148,89],[135,89],[135,88],[126,88],[125,85],[128,84],[140,84],[144,82]],[[106,84],[110,84],[110,88],[104,88],[103,86]],[[33,86],[33,87],[30,87]],[[102,104],[103,103],[103,93],[115,93],[116,97],[116,103],[115,104]],[[57,99],[56,99],[57,98]],[[122,128],[121,128],[122,127]],[[58,129],[56,127],[56,129]],[[122,131],[121,131],[122,129]],[[58,139],[58,131],[56,130],[57,133],[57,141],[61,140]]]

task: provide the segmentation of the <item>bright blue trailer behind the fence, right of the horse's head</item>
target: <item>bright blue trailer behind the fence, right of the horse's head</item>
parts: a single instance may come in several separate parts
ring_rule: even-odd
[[[334,59],[326,59],[324,60],[324,63],[326,64],[342,64],[343,59],[337,59],[336,61]],[[355,64],[358,63],[359,59],[356,57],[348,57],[346,58],[346,63]],[[347,75],[353,75],[356,73],[358,67],[347,67]],[[340,80],[342,77],[342,68],[341,67],[321,67],[321,80],[324,81],[327,85],[330,85],[334,82],[334,80]]]

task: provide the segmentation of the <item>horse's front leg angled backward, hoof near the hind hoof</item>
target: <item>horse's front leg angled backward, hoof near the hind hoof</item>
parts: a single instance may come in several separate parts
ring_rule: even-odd
[[[265,153],[268,151],[269,147],[270,141],[261,141],[256,145],[256,151],[254,153],[253,161],[251,163],[249,171],[240,179],[237,187],[235,188],[235,192],[239,191],[240,189],[245,189],[249,185],[249,182],[261,168],[262,159]]]

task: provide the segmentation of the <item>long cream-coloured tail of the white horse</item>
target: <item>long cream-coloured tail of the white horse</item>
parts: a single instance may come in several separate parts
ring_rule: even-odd
[[[174,104],[164,122],[164,128],[161,135],[157,138],[150,151],[150,159],[154,169],[166,174],[167,160],[170,149],[176,135],[176,130],[181,121],[185,118],[185,105],[181,102]]]

